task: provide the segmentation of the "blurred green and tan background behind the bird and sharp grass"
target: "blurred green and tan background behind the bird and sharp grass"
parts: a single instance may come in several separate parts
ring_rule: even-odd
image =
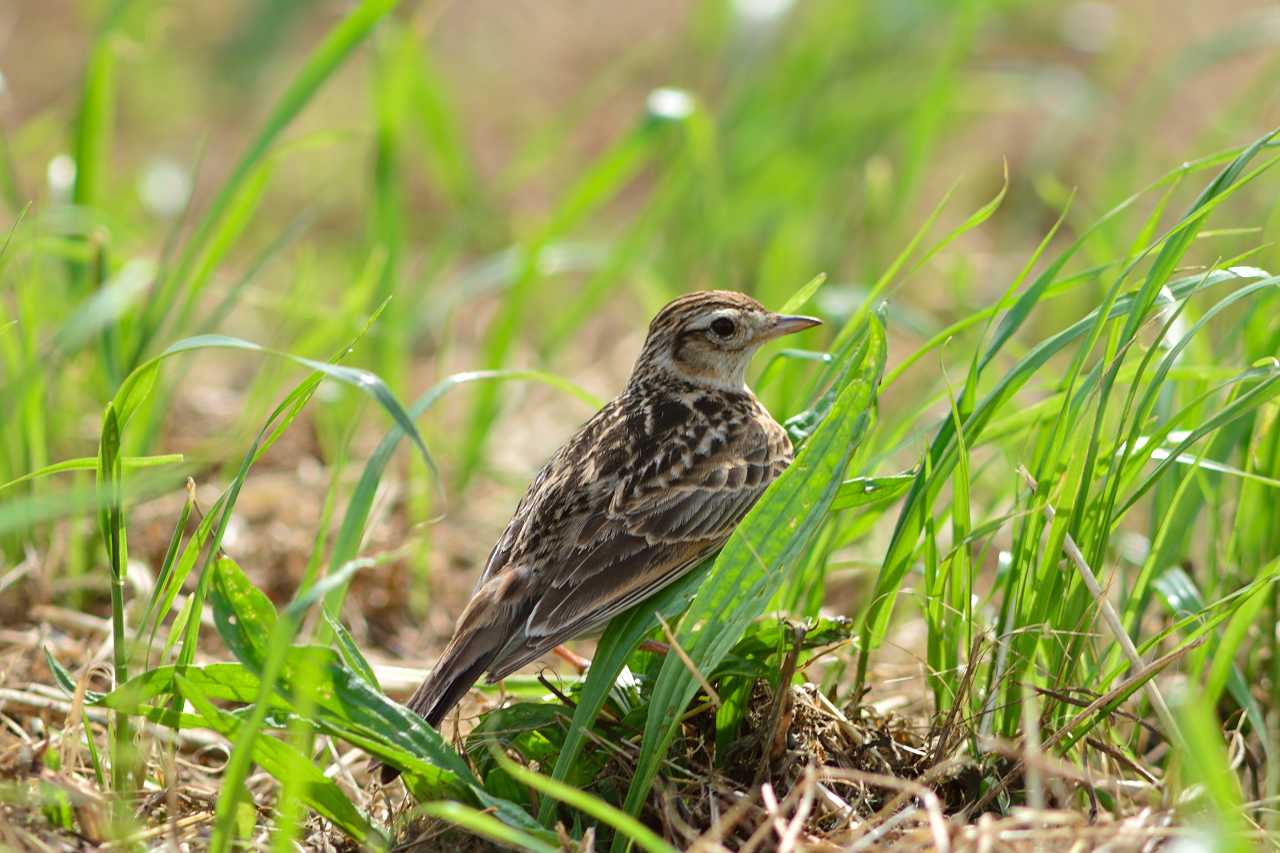
[[[392,6],[58,0],[0,12],[0,483],[96,456],[119,384],[193,334],[320,360],[358,338],[348,362],[404,401],[458,371],[504,368],[607,398],[666,300],[727,287],[780,306],[818,272],[829,278],[817,310],[836,329],[884,284],[893,382],[858,473],[905,470],[964,380],[974,318],[1060,218],[1050,252],[1179,164],[1280,124],[1280,13],[1262,3]],[[1097,270],[1161,233],[1162,210],[1187,206],[1206,179],[1188,174],[1098,227],[1070,270],[1079,278],[997,366],[1097,307],[1112,283]],[[989,219],[956,233],[1001,193]],[[1188,264],[1247,255],[1280,268],[1275,199],[1265,182],[1235,193],[1230,222],[1202,233]],[[886,277],[922,232],[922,248],[955,240]],[[954,323],[952,339],[897,373]],[[1275,345],[1258,330],[1244,348],[1260,357]],[[1192,351],[1212,362],[1215,343]],[[780,364],[760,394],[786,416],[808,405],[817,370]],[[1065,370],[1051,362],[1028,401],[1051,397]],[[184,461],[136,484],[155,500],[131,515],[131,583],[145,587],[163,561],[183,478],[212,505],[296,374],[223,350],[165,368],[123,453]],[[326,537],[385,430],[374,409],[320,386],[246,480],[224,544],[276,601],[352,546]],[[364,647],[431,660],[529,476],[590,411],[562,388],[479,383],[419,420],[443,476],[402,452],[374,498],[360,551],[385,558],[343,612]],[[1011,471],[1033,450],[1006,435],[973,474],[975,516],[1007,508]],[[41,606],[108,612],[95,519],[73,511],[91,491],[82,473],[0,494],[4,555],[13,566],[38,555],[41,579],[5,592],[6,622]],[[1169,501],[1149,519],[1140,506],[1124,534],[1149,544]],[[893,517],[842,533],[850,547],[823,569],[823,601],[803,602],[797,581],[794,610],[861,613]],[[1275,553],[1270,535],[1238,576],[1198,578],[1210,597],[1254,578]],[[1170,553],[1190,561],[1190,546],[1215,548]],[[995,575],[997,551],[977,555],[979,578]],[[899,613],[900,639],[919,652],[913,615]]]

